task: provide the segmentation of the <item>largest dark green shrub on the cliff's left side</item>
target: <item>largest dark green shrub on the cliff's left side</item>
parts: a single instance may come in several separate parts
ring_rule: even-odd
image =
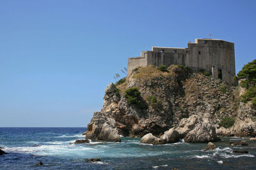
[[[129,105],[135,104],[138,108],[141,108],[141,96],[137,87],[132,87],[125,90],[124,97],[127,99]]]

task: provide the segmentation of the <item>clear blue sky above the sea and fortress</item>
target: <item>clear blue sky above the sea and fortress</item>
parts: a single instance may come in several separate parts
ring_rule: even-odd
[[[195,38],[256,59],[256,1],[0,0],[0,127],[86,127],[128,57]],[[211,37],[210,37],[211,33]]]

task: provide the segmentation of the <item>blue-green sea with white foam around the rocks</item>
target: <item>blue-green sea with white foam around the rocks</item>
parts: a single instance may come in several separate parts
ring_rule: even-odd
[[[230,146],[230,139],[214,143],[145,145],[140,138],[122,137],[122,142],[74,144],[84,139],[85,127],[1,127],[0,169],[256,169],[256,142]],[[248,153],[232,153],[246,150]],[[99,162],[87,159],[99,158]],[[36,166],[38,162],[42,166]]]

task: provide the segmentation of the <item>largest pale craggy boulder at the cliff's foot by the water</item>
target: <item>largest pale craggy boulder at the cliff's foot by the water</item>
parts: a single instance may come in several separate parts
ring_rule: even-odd
[[[216,128],[211,124],[209,118],[192,115],[183,118],[176,129],[187,143],[207,143],[220,140],[216,134]]]

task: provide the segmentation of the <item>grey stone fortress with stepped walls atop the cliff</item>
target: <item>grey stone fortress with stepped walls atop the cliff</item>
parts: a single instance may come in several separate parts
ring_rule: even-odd
[[[128,59],[127,75],[136,67],[170,66],[171,64],[190,67],[191,71],[207,71],[214,78],[220,78],[229,85],[234,84],[236,75],[234,43],[221,39],[195,39],[188,48],[152,47],[142,51],[140,57]]]

